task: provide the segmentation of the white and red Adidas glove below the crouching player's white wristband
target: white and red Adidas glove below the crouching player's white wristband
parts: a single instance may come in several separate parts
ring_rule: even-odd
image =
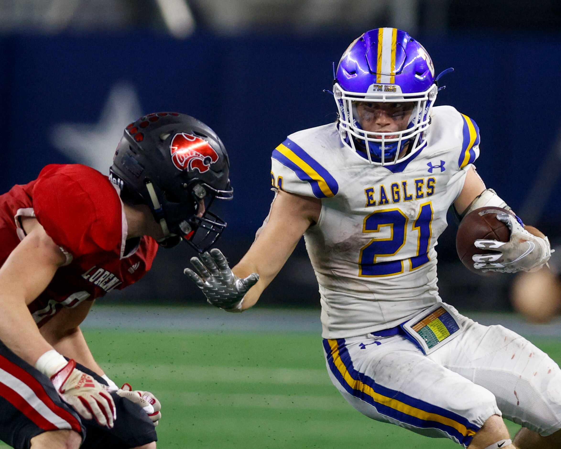
[[[117,419],[117,409],[106,387],[91,375],[76,369],[70,359],[61,370],[50,377],[59,396],[85,419],[95,418],[99,425],[109,429]]]

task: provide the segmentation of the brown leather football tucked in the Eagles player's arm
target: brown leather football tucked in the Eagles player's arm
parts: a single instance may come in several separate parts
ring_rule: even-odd
[[[506,242],[511,237],[508,226],[496,218],[496,214],[501,212],[512,214],[509,210],[500,207],[481,207],[472,210],[459,223],[458,233],[456,234],[456,251],[458,251],[458,257],[462,263],[473,273],[483,276],[488,274],[473,268],[472,256],[493,252],[478,249],[473,245],[473,242],[479,239]]]

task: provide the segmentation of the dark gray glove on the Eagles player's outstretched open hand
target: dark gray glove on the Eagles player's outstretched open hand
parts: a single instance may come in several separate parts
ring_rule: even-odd
[[[257,273],[252,273],[245,279],[237,277],[217,248],[211,249],[210,254],[201,254],[200,259],[192,257],[191,263],[198,274],[189,268],[185,268],[183,273],[203,290],[209,304],[227,311],[241,311],[243,297],[259,281]]]

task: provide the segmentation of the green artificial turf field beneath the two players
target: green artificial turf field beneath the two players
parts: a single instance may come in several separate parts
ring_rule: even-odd
[[[152,391],[162,402],[162,449],[459,447],[355,411],[329,380],[319,335],[84,333],[109,377]],[[532,341],[561,361],[560,342]],[[507,424],[512,434],[519,428]]]

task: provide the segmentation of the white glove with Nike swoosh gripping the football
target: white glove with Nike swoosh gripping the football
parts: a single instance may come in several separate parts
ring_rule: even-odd
[[[508,242],[498,240],[476,240],[479,249],[490,249],[496,253],[473,255],[473,268],[482,272],[516,273],[536,271],[551,257],[548,237],[542,239],[526,231],[512,214],[498,213],[496,218],[511,230]]]

